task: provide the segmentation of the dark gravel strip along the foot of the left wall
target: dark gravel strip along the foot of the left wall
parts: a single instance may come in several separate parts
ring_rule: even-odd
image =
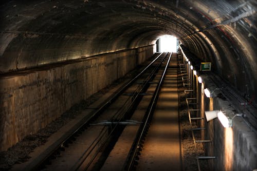
[[[138,72],[138,70],[141,70],[140,66],[126,74],[123,78],[116,80],[113,84],[93,94],[88,99],[72,106],[56,120],[49,123],[45,128],[36,132],[36,134],[26,136],[23,140],[10,147],[7,151],[0,151],[0,170],[9,170],[15,163],[23,163],[27,161],[30,158],[29,154],[34,148],[43,145],[47,141],[48,137],[50,137],[54,132],[58,131],[70,120],[78,116],[83,109],[97,101],[116,85],[122,83],[126,79],[132,78]]]

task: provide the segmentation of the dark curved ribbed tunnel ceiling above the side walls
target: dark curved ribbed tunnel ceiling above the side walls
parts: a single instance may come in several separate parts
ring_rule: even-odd
[[[249,97],[257,80],[256,6],[255,0],[4,1],[0,72],[153,45],[171,34]]]

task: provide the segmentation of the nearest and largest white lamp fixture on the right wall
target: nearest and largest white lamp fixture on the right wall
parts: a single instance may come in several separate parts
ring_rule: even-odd
[[[209,122],[215,118],[218,118],[219,122],[221,122],[225,128],[228,128],[228,127],[232,127],[232,125],[233,125],[232,120],[235,117],[245,117],[245,115],[244,114],[236,114],[231,119],[231,118],[227,117],[225,115],[225,113],[223,113],[221,110],[213,110],[213,111],[205,111],[205,117],[206,117],[207,122]]]

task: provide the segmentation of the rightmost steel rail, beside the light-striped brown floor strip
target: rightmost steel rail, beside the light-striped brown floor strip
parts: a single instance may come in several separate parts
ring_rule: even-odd
[[[132,170],[133,168],[133,165],[134,165],[134,161],[136,159],[136,156],[137,156],[137,152],[138,152],[138,148],[139,148],[139,144],[143,138],[143,135],[146,131],[146,127],[148,125],[148,123],[150,122],[151,120],[151,116],[152,116],[152,113],[154,112],[154,109],[155,109],[155,106],[156,106],[156,103],[157,103],[157,100],[158,100],[158,97],[159,97],[159,91],[160,91],[160,88],[162,86],[162,83],[163,83],[163,80],[164,80],[164,76],[166,75],[166,71],[167,71],[167,68],[168,68],[168,65],[170,63],[170,59],[171,59],[171,55],[172,53],[170,54],[169,56],[169,59],[168,59],[168,62],[166,64],[166,67],[162,73],[162,76],[161,76],[161,79],[158,83],[158,86],[157,88],[155,89],[155,92],[154,92],[154,96],[153,98],[151,99],[151,103],[148,107],[148,111],[145,113],[145,117],[144,117],[144,122],[143,124],[140,125],[139,127],[139,130],[137,132],[137,137],[133,143],[133,146],[130,150],[130,153],[131,155],[128,155],[127,156],[127,159],[126,159],[126,162],[123,166],[123,170]]]

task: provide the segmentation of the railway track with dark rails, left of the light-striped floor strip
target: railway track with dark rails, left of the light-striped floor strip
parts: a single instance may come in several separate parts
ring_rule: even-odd
[[[122,164],[122,169],[134,168],[138,154],[137,146],[142,142],[143,135],[149,127],[151,113],[155,108],[170,59],[171,53],[159,54],[101,107],[90,109],[93,111],[90,117],[67,131],[61,140],[57,140],[54,145],[42,152],[44,155],[25,165],[23,169],[99,170],[108,159],[123,130],[127,127],[140,127],[133,132],[137,138],[133,141],[133,145],[129,145],[130,154],[123,155],[125,163]],[[140,112],[138,116],[141,119],[138,119],[134,117],[134,112],[143,98],[148,99],[148,104],[144,105],[147,106],[147,112],[143,114]],[[147,115],[144,115],[145,113]]]

